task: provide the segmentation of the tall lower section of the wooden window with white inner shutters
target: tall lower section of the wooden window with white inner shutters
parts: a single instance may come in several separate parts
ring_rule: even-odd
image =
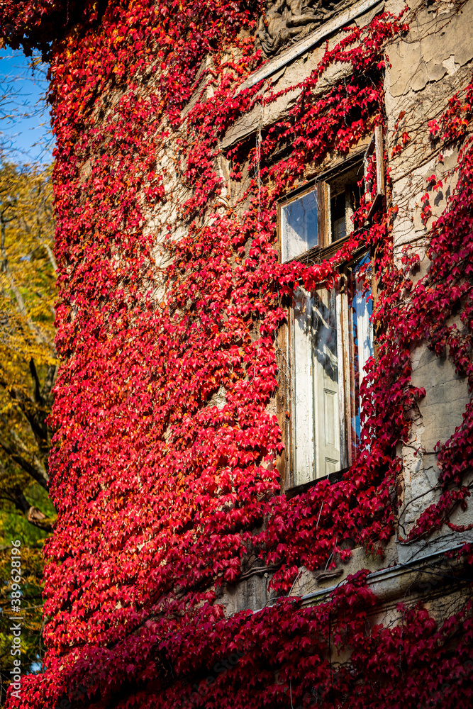
[[[291,483],[347,467],[360,440],[360,385],[373,354],[369,257],[338,286],[296,291],[291,313]]]

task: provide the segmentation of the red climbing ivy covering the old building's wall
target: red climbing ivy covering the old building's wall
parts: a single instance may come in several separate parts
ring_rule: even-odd
[[[362,199],[360,228],[328,262],[279,264],[275,200],[307,164],[386,130],[386,48],[408,24],[404,13],[382,13],[347,30],[291,87],[299,97],[289,118],[249,156],[241,146],[222,155],[235,120],[279,96],[261,83],[242,87],[262,62],[252,38],[261,11],[220,0],[44,0],[0,11],[9,42],[50,57],[62,359],[50,422],[58,517],[46,552],[48,653],[43,675],[10,693],[11,707],[471,703],[468,599],[443,624],[420,606],[399,607],[402,624],[392,627],[372,620],[367,571],[313,608],[286,594],[301,565],[328,566],[353,545],[383,554],[394,533],[394,448],[425,393],[411,385],[411,342],[448,346],[473,384],[472,84],[430,128],[439,152],[455,141],[461,153],[435,223],[428,203],[438,182],[426,185],[425,277],[416,279],[413,253],[394,264],[389,191],[369,225]],[[317,97],[336,62],[349,78]],[[401,143],[396,152],[408,135]],[[340,481],[288,501],[274,465],[282,432],[268,412],[277,331],[296,285],[333,287],[338,264],[362,245],[374,254],[379,297],[361,452]],[[461,330],[449,320],[459,307]],[[438,450],[440,502],[409,538],[451,525],[452,508],[466,504],[471,445],[469,407]],[[251,555],[274,571],[279,598],[226,618],[216,594]],[[464,558],[471,564],[471,550]]]

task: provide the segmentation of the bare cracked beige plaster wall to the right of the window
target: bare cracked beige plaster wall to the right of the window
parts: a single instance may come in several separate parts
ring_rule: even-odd
[[[403,247],[411,245],[421,258],[421,268],[416,278],[428,270],[425,256],[426,236],[433,220],[447,205],[448,196],[455,188],[455,177],[449,171],[457,163],[457,150],[450,146],[444,150],[443,161],[438,160],[438,148],[429,138],[428,121],[438,118],[447,100],[465,86],[472,75],[473,2],[457,4],[441,2],[423,4],[406,38],[389,49],[391,67],[386,70],[386,152],[391,168],[392,201],[399,206],[394,221],[394,253],[399,262]],[[399,121],[396,130],[396,121]],[[406,131],[410,142],[396,157],[391,150],[399,135]],[[427,224],[421,221],[421,196],[425,193],[426,177],[435,174],[443,182],[437,194],[430,193],[432,217]],[[460,323],[461,325],[461,323]],[[423,386],[425,397],[418,402],[417,411],[411,412],[411,436],[399,445],[398,454],[404,459],[404,481],[400,510],[399,532],[405,536],[418,515],[438,499],[437,457],[435,445],[444,443],[462,423],[469,395],[467,381],[455,374],[448,354],[438,357],[426,343],[413,348],[411,355],[413,386]],[[466,515],[469,518],[469,514]],[[452,518],[452,521],[455,521]],[[462,515],[462,523],[467,523]],[[452,542],[457,535],[439,533],[436,544]],[[423,553],[423,543],[414,545],[416,553]],[[399,545],[399,558],[408,559],[414,547]],[[424,548],[425,547],[425,548]],[[433,545],[428,546],[433,551]]]

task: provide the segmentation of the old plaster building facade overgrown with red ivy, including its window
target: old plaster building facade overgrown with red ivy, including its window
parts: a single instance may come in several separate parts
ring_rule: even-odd
[[[469,707],[471,0],[1,13],[62,357],[9,706]]]

